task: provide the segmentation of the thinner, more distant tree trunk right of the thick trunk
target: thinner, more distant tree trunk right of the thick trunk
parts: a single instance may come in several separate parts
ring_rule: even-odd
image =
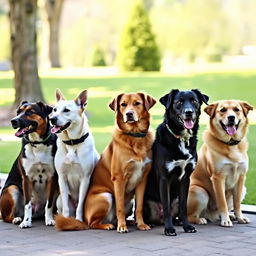
[[[64,0],[46,0],[45,7],[49,22],[49,58],[52,67],[60,67],[59,27]]]

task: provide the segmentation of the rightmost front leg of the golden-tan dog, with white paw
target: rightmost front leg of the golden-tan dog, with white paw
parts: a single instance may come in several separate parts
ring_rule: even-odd
[[[233,194],[234,213],[235,217],[240,224],[250,223],[250,220],[242,214],[241,201],[245,183],[245,174],[240,175],[239,180],[236,184]]]

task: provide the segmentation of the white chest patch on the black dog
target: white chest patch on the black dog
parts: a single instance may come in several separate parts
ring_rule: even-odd
[[[176,150],[178,159],[166,161],[166,169],[168,173],[173,173],[175,170],[179,171],[179,180],[181,180],[185,174],[186,167],[191,165],[191,168],[194,169],[196,161],[195,158],[189,153],[184,141],[180,141]]]

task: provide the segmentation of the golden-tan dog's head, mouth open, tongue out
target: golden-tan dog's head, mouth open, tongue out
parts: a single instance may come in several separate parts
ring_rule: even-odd
[[[244,137],[248,119],[253,107],[239,100],[220,100],[207,106],[204,111],[210,116],[210,126],[216,136],[224,141],[230,137],[240,140]]]

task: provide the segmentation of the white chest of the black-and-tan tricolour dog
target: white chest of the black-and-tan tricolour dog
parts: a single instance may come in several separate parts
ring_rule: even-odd
[[[33,181],[34,186],[45,185],[54,174],[52,146],[39,144],[34,147],[27,144],[24,150],[22,164],[26,175]]]

